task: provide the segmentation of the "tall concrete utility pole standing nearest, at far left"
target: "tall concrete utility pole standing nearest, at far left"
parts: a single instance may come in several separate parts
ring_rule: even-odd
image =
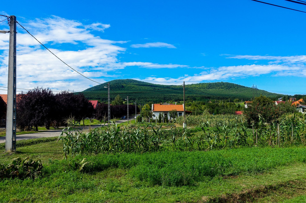
[[[16,151],[16,16],[10,16],[9,19],[9,72],[5,151]]]

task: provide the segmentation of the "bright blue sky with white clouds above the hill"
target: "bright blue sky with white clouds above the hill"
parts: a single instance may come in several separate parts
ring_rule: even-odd
[[[306,11],[291,2],[266,2]],[[0,14],[17,16],[61,59],[101,83],[127,78],[155,84],[224,81],[306,94],[306,13],[250,0],[206,0],[17,1],[12,9],[2,7]],[[7,29],[0,23],[0,30]],[[18,88],[82,91],[96,85],[72,72],[21,27],[17,32]],[[4,87],[8,37],[0,34]]]

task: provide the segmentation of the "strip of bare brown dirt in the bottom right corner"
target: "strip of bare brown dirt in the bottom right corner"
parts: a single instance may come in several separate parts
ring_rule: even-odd
[[[247,189],[240,193],[222,195],[217,198],[202,197],[200,202],[218,202],[218,203],[242,203],[258,202],[258,200],[271,197],[269,202],[278,202],[279,197],[293,198],[306,194],[306,180],[292,180],[277,185],[259,186],[254,189]]]

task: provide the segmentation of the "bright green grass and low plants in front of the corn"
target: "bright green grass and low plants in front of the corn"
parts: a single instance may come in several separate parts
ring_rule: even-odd
[[[271,190],[264,192],[263,201],[249,202],[276,202],[295,195],[282,195],[284,185],[295,181],[306,184],[305,152],[305,147],[291,147],[101,154],[88,156],[87,161],[92,162],[87,166],[90,172],[81,173],[73,169],[73,163],[84,157],[62,160],[61,143],[39,143],[19,147],[12,155],[0,154],[0,163],[29,156],[41,159],[44,165],[41,178],[0,180],[0,202],[200,202],[211,198],[217,201],[232,197],[233,193],[239,195],[264,187]],[[155,184],[150,178],[139,178],[159,177],[167,171],[175,177],[182,174],[176,171],[187,172],[199,167],[207,174],[200,174],[199,179],[185,186],[166,186]]]

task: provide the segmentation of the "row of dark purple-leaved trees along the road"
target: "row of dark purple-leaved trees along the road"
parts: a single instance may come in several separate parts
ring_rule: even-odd
[[[49,88],[37,87],[19,94],[16,102],[16,124],[24,130],[34,127],[37,131],[38,126],[45,126],[46,129],[50,129],[50,124],[54,121],[67,126],[65,120],[69,117],[73,118],[75,122],[84,121],[86,118],[96,118],[100,121],[107,121],[108,119],[108,105],[99,104],[94,109],[91,102],[82,93],[74,94],[62,91],[53,94]],[[113,105],[110,106],[111,119],[120,118],[127,114],[127,105],[123,105],[122,101],[122,104],[119,105],[116,104],[116,101],[112,103]],[[138,107],[136,111],[139,111]],[[130,114],[135,113],[135,105],[129,105],[129,112]],[[5,116],[6,103],[1,98],[0,119],[5,119]]]

